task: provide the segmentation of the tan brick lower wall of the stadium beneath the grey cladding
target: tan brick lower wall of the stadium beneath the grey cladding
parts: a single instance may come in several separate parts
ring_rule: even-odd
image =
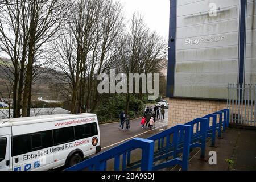
[[[226,109],[226,102],[224,101],[170,98],[169,104],[168,127],[184,124],[193,119]]]

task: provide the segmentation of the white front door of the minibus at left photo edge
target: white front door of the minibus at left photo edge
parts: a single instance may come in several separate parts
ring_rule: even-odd
[[[9,171],[13,169],[10,154],[10,135],[0,136],[0,171]]]

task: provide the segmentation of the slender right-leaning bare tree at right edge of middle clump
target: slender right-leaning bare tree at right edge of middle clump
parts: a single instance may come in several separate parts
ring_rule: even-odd
[[[98,104],[99,95],[97,91],[97,76],[101,73],[109,72],[114,68],[117,62],[119,47],[117,41],[123,34],[125,24],[122,14],[122,5],[112,0],[103,2],[103,10],[101,14],[100,26],[98,26],[97,37],[94,41],[93,56],[90,58],[88,72],[87,94],[85,98],[86,106],[90,106],[87,111],[93,112]],[[94,56],[96,55],[96,56]]]

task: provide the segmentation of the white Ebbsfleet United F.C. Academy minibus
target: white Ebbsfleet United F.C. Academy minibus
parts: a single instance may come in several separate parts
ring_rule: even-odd
[[[0,171],[71,167],[100,151],[96,114],[0,120]]]

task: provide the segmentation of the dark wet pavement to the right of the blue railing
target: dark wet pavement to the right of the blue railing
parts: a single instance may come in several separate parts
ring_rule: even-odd
[[[200,160],[200,151],[189,161],[189,171],[255,171],[256,129],[229,128],[216,139],[217,147],[206,147],[207,160]],[[217,164],[210,165],[210,151],[216,151]],[[229,163],[227,162],[229,160]]]

